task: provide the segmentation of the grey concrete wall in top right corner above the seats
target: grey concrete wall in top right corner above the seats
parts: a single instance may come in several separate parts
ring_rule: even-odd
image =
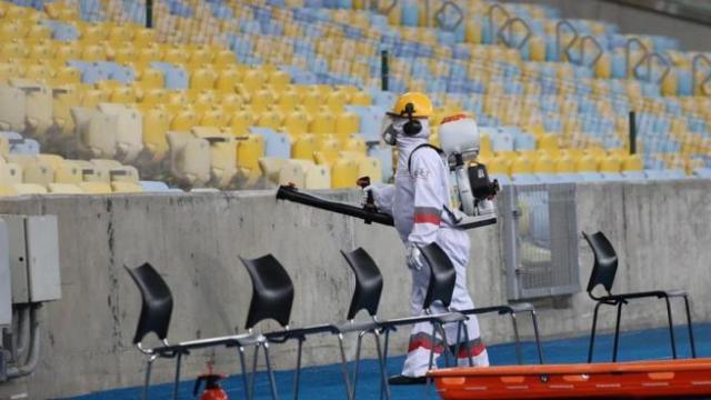
[[[517,1],[530,2],[530,1]],[[605,0],[535,0],[561,10],[562,18],[584,18],[617,23],[622,33],[665,34],[678,39],[683,50],[710,51],[711,27],[659,12]]]

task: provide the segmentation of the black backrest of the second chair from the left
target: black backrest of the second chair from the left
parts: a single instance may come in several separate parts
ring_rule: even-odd
[[[252,280],[252,301],[246,329],[267,319],[273,319],[282,327],[288,326],[293,303],[293,282],[287,270],[272,254],[252,260],[240,257],[240,260]]]

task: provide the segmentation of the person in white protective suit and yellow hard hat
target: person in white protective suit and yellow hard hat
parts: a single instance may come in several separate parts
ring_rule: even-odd
[[[383,139],[398,148],[395,184],[373,184],[364,189],[364,198],[371,192],[380,211],[392,214],[394,226],[405,246],[407,266],[412,274],[410,311],[412,316],[423,313],[422,303],[427,293],[430,272],[423,266],[417,246],[437,242],[449,256],[457,269],[457,283],[450,307],[465,310],[474,307],[467,289],[467,264],[469,262],[469,236],[454,228],[451,214],[445,210],[450,204],[449,168],[440,150],[428,144],[430,136],[429,118],[432,103],[423,93],[402,94],[388,116],[391,124],[383,132]],[[445,312],[435,302],[433,312]],[[455,344],[457,323],[444,327],[448,346]],[[481,341],[479,323],[474,316],[467,321],[469,342],[460,343],[458,364],[468,366],[469,357],[474,366],[489,366],[487,349]],[[444,348],[442,339],[432,338],[432,326],[421,322],[412,328],[408,357],[401,376],[390,378],[391,384],[418,384],[425,382],[430,349],[435,357]],[[463,334],[461,336],[463,340]]]

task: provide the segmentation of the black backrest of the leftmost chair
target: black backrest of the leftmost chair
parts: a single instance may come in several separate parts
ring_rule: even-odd
[[[139,343],[150,332],[156,333],[158,339],[164,340],[168,337],[170,316],[173,311],[173,296],[170,293],[170,288],[148,262],[136,268],[127,267],[127,270],[141,291],[142,298],[141,316],[138,319],[133,344]]]

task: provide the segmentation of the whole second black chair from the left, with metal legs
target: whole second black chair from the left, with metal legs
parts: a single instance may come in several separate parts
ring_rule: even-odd
[[[298,341],[297,350],[297,368],[293,379],[293,396],[294,399],[299,397],[299,382],[301,374],[301,353],[303,342],[308,336],[331,333],[338,337],[339,347],[341,352],[341,367],[343,374],[343,382],[346,384],[346,393],[348,399],[352,399],[356,396],[356,378],[353,378],[353,384],[351,387],[350,372],[348,369],[348,360],[346,358],[346,350],[343,347],[343,334],[347,332],[360,332],[358,337],[358,354],[360,357],[360,344],[363,332],[370,332],[375,336],[375,346],[378,348],[379,360],[382,360],[380,356],[380,341],[378,339],[378,324],[373,322],[353,322],[353,317],[362,308],[368,309],[368,299],[363,297],[363,292],[357,288],[351,301],[348,319],[349,322],[343,324],[319,324],[307,328],[291,329],[289,327],[289,319],[291,316],[291,308],[293,304],[293,283],[286,269],[281,263],[271,254],[267,254],[257,259],[247,260],[240,258],[247,270],[249,271],[252,280],[252,300],[250,303],[249,314],[247,317],[246,328],[252,332],[254,326],[260,321],[272,319],[283,327],[283,330],[272,331],[263,333],[263,341],[258,343],[254,354],[254,366],[252,372],[256,372],[257,357],[259,347],[264,348],[264,359],[267,362],[267,369],[270,374],[270,384],[272,397],[278,398],[277,386],[271,371],[271,364],[269,360],[269,343],[283,343],[289,340]],[[382,378],[385,379],[384,364],[381,363]],[[358,376],[358,369],[356,370],[356,377]],[[253,374],[252,379],[253,381]],[[250,382],[250,397],[253,394],[251,388],[253,383]]]

